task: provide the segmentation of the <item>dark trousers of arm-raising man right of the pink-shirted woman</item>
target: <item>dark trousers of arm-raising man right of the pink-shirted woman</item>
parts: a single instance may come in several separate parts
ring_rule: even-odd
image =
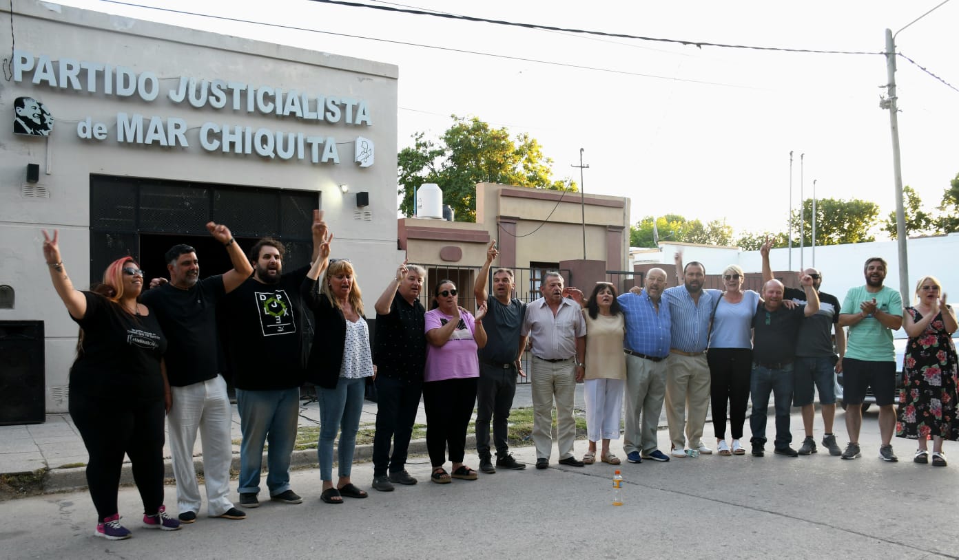
[[[516,366],[497,368],[479,363],[477,382],[477,453],[479,458],[489,458],[489,423],[493,420],[493,443],[497,457],[509,452],[506,437],[509,409],[516,394]]]

